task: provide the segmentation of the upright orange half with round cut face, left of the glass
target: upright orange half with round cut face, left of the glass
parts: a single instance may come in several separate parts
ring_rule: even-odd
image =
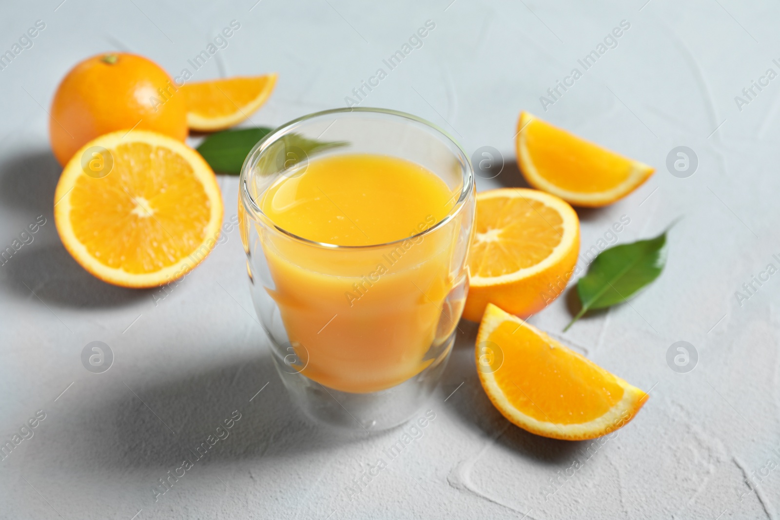
[[[76,262],[122,287],[180,278],[211,252],[222,225],[222,195],[203,157],[143,130],[107,133],[76,152],[54,209]]]

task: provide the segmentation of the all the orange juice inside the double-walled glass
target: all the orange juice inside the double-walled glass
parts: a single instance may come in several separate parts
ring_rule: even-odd
[[[327,387],[373,392],[424,370],[459,317],[447,300],[462,266],[456,231],[434,227],[456,195],[419,164],[373,154],[314,159],[268,188],[260,207],[282,235],[261,239],[272,287],[303,374]],[[293,260],[294,259],[294,260]],[[448,321],[449,320],[449,321]]]

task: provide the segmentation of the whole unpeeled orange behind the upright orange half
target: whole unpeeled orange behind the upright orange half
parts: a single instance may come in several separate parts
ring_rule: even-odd
[[[171,76],[143,56],[110,52],[73,67],[51,101],[51,150],[63,166],[84,144],[122,129],[187,136],[187,109]]]

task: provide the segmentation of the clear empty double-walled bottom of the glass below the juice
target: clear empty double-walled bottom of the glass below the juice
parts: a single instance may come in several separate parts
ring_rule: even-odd
[[[441,380],[454,342],[455,332],[452,332],[425,370],[395,387],[370,394],[325,387],[303,373],[291,373],[289,365],[279,356],[271,357],[293,401],[310,419],[346,430],[376,432],[406,423],[425,405]],[[282,349],[271,348],[272,352],[279,350]]]

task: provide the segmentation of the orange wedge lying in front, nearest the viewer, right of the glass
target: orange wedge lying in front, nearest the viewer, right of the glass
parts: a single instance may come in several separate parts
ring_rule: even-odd
[[[649,397],[523,320],[488,306],[477,333],[477,370],[509,422],[544,437],[601,437]]]

